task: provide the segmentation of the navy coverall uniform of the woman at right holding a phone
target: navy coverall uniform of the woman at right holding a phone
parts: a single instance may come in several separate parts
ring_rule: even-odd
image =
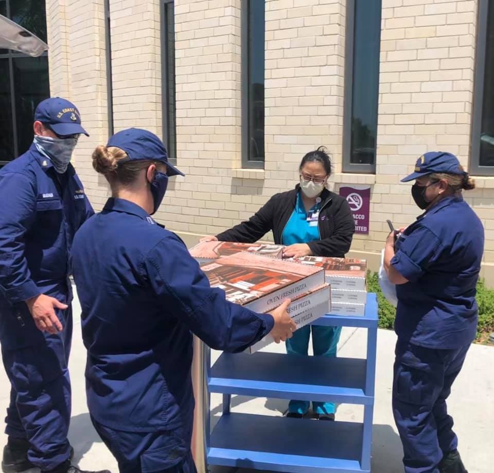
[[[396,242],[398,335],[393,412],[407,473],[438,473],[457,447],[446,398],[477,331],[475,286],[484,228],[461,196],[449,196]]]

